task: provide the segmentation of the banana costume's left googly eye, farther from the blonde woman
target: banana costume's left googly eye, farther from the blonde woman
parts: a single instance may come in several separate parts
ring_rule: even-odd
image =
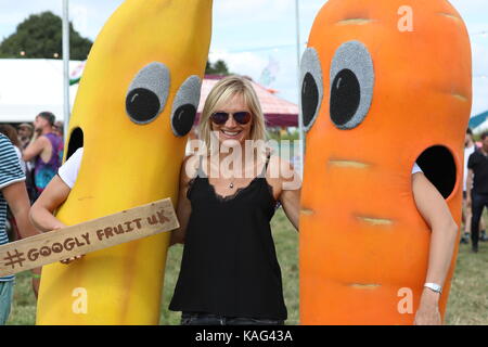
[[[126,97],[126,112],[136,124],[147,124],[160,114],[169,93],[169,69],[154,62],[133,78]]]

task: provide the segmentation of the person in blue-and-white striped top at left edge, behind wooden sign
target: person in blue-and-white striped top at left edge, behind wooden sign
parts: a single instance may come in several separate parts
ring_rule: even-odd
[[[0,134],[0,245],[10,242],[5,232],[7,205],[15,217],[22,239],[39,234],[28,219],[30,204],[24,181],[25,175],[14,146],[5,136]],[[40,268],[33,270],[33,286],[37,296]],[[13,275],[0,278],[0,325],[5,324],[10,314],[14,279]]]

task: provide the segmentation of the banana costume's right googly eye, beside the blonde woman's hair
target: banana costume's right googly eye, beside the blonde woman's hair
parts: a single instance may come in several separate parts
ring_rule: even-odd
[[[171,108],[171,129],[175,136],[184,137],[193,127],[198,108],[202,80],[190,76],[178,90]]]

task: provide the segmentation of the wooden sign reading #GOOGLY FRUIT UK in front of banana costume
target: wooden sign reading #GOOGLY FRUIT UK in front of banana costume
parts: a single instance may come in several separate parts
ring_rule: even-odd
[[[0,277],[179,228],[165,198],[0,246]]]

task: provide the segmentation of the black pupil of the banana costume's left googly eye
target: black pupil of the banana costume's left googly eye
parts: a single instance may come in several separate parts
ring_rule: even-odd
[[[159,99],[149,89],[136,88],[126,99],[126,110],[132,120],[147,123],[159,113]]]

